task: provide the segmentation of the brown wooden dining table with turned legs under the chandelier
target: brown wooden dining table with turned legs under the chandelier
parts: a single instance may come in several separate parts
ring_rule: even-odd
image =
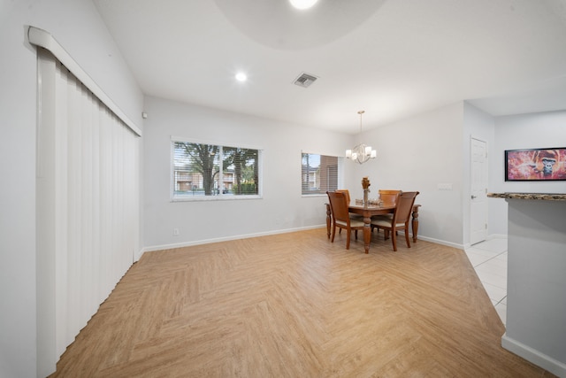
[[[418,208],[420,204],[413,204],[411,228],[413,231],[413,243],[417,243],[418,232]],[[363,249],[365,253],[370,252],[371,242],[371,217],[374,215],[390,214],[395,211],[395,204],[356,204],[352,203],[348,206],[348,212],[360,214],[363,216]],[[326,235],[330,238],[332,227],[332,210],[330,204],[326,204]],[[409,232],[409,231],[406,231]]]

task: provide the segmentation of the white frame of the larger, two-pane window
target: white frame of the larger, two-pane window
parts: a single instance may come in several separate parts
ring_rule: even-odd
[[[218,194],[212,196],[184,196],[184,195],[175,195],[175,143],[195,143],[195,144],[208,144],[218,146],[220,151],[223,151],[224,148],[241,148],[241,149],[249,149],[249,150],[257,150],[257,194],[252,195],[233,195],[233,194],[225,194],[221,191],[218,191]],[[240,143],[236,143],[237,145],[227,145],[218,142],[210,142],[204,140],[198,140],[193,138],[185,138],[182,136],[171,136],[170,140],[170,149],[171,149],[171,157],[169,161],[170,166],[170,200],[171,202],[200,202],[200,201],[241,201],[241,200],[249,200],[249,199],[262,199],[263,198],[263,181],[264,181],[264,174],[263,174],[263,155],[264,150],[258,148],[256,146],[249,146],[249,145],[242,145]],[[222,159],[220,158],[219,161],[220,172],[222,172]],[[222,176],[220,176],[220,181],[222,181]]]

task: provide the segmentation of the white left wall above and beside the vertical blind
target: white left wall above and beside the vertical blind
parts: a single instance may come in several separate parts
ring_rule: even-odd
[[[36,56],[27,26],[50,32],[142,127],[142,93],[90,0],[0,0],[0,376],[36,375]]]

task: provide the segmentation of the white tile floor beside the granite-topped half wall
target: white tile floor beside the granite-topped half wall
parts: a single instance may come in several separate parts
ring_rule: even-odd
[[[507,314],[507,239],[491,239],[465,250],[479,280],[505,324]]]

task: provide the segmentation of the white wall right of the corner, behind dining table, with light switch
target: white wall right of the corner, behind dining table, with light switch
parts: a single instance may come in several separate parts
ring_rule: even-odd
[[[418,190],[419,238],[463,246],[463,103],[449,104],[356,136],[377,148],[378,158],[363,165],[348,161],[351,197],[362,196],[362,177],[379,189]],[[453,190],[439,190],[451,183]]]

